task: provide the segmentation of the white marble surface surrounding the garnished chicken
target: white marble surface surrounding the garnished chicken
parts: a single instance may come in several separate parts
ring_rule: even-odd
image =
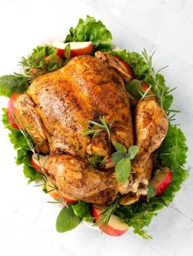
[[[163,75],[171,88],[178,86],[174,107],[182,113],[177,123],[181,123],[190,148],[190,178],[169,208],[153,218],[148,228],[152,241],[143,241],[132,230],[122,237],[100,236],[82,225],[60,234],[54,226],[58,207],[46,203],[40,189],[27,185],[22,167],[15,166],[7,130],[0,124],[1,255],[193,255],[192,9],[192,0],[1,0],[0,75],[16,70],[20,56],[37,43],[63,31],[65,35],[78,18],[94,15],[106,24],[121,48],[156,49],[154,67],[170,65]],[[0,107],[6,104],[6,98],[1,98]]]

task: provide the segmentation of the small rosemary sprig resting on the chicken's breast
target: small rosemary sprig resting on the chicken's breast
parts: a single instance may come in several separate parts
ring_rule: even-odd
[[[109,123],[107,125],[105,119],[104,119],[104,115],[102,117],[99,117],[99,122],[95,122],[93,120],[89,120],[89,123],[87,123],[88,127],[85,128],[85,134],[83,134],[83,136],[87,136],[87,135],[91,135],[93,134],[93,139],[95,138],[96,134],[98,134],[100,131],[104,130],[107,132],[108,134],[108,140],[110,141],[110,130],[111,127],[114,123],[114,120]],[[95,129],[95,127],[91,126],[94,125],[95,127],[97,127],[98,129]]]

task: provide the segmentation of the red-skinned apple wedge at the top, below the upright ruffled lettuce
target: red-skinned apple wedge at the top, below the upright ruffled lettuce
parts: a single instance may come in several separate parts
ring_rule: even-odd
[[[60,40],[54,40],[52,42],[52,46],[54,48],[58,48],[57,55],[64,58],[65,53],[64,49],[66,46],[70,44],[70,58],[77,56],[77,55],[84,55],[90,54],[93,50],[93,43],[92,42],[70,42],[70,43],[63,43]]]

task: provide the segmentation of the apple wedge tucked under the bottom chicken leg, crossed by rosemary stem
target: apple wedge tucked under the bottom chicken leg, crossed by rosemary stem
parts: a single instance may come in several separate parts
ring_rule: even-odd
[[[75,199],[72,196],[69,196],[68,194],[66,194],[64,192],[60,192],[60,194],[59,194],[58,191],[56,189],[54,189],[52,183],[49,181],[47,181],[47,183],[45,184],[45,188],[47,189],[49,195],[51,195],[56,200],[60,199],[60,196],[61,196],[62,199],[66,202],[66,204],[78,202],[77,199]]]

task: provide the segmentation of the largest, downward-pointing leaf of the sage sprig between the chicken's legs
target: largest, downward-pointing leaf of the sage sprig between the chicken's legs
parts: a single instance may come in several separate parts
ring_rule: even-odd
[[[124,184],[129,177],[131,172],[131,162],[130,159],[121,159],[115,167],[116,180],[120,184]]]

